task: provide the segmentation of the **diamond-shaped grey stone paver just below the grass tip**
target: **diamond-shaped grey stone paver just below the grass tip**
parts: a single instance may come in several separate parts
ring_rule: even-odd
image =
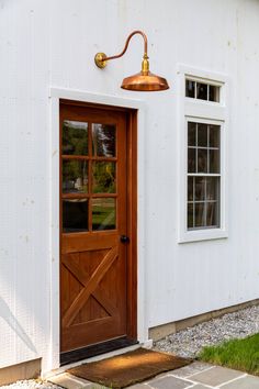
[[[190,376],[188,378],[195,382],[216,387],[224,382],[230,381],[234,378],[241,377],[243,375],[244,373],[240,371],[227,369],[221,366],[215,366],[212,369],[207,369],[205,371],[194,374],[193,376]]]

